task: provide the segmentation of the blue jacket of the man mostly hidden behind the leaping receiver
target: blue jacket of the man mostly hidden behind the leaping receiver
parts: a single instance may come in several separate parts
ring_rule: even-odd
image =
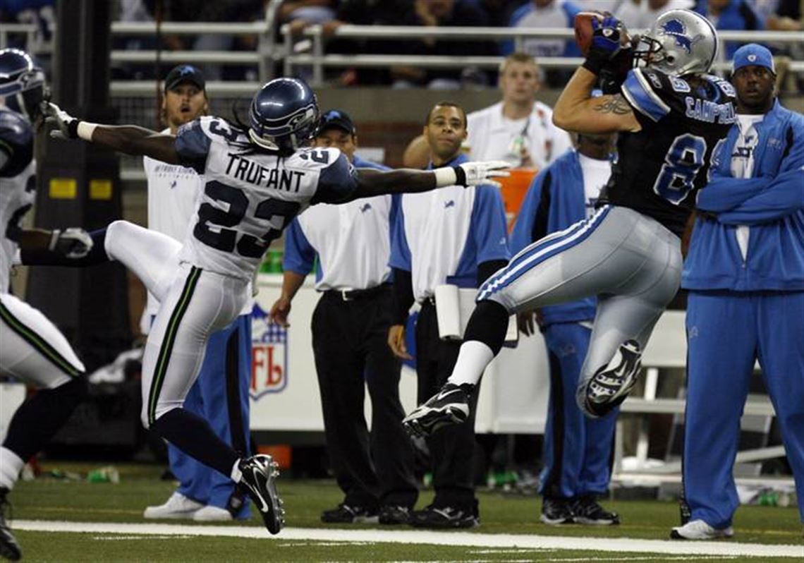
[[[544,215],[546,211],[546,216]],[[544,168],[527,188],[511,232],[511,253],[519,253],[537,238],[586,219],[584,175],[578,153],[571,149]],[[546,225],[544,221],[546,220]],[[537,225],[537,221],[542,224]],[[541,308],[542,323],[573,323],[595,318],[597,299],[590,297]]]

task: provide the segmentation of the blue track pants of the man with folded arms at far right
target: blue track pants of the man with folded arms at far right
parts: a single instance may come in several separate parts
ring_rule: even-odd
[[[691,520],[732,524],[740,416],[759,360],[804,522],[804,292],[691,291],[687,343],[683,484]]]

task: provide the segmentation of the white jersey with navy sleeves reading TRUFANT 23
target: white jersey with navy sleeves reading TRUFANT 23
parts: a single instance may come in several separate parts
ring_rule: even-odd
[[[346,199],[356,187],[340,150],[257,150],[219,117],[183,125],[175,146],[182,164],[204,177],[181,260],[229,276],[251,278],[294,216],[313,203]]]

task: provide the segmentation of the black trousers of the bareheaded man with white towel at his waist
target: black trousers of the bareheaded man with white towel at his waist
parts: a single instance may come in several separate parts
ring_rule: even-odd
[[[425,301],[416,322],[416,375],[419,404],[427,401],[445,384],[457,361],[460,342],[438,337],[436,306]],[[427,446],[433,460],[433,504],[474,509],[474,418],[478,392],[470,398],[469,419],[461,425],[438,430],[428,438]]]

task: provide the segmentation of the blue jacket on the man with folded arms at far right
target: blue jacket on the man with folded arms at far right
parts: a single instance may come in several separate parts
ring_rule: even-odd
[[[753,178],[732,178],[737,125],[716,147],[684,262],[687,290],[804,290],[804,116],[773,105],[755,126]],[[745,261],[736,225],[751,228]]]

